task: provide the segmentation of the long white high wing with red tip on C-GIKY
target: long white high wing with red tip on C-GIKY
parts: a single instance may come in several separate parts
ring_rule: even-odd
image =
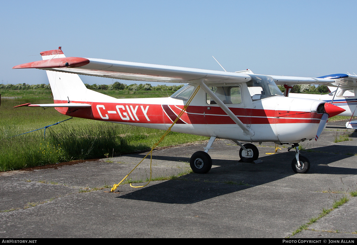
[[[114,79],[148,82],[156,81],[189,83],[190,81],[203,79],[203,82],[205,84],[235,84],[239,82],[250,81],[251,76],[254,76],[252,73],[244,71],[226,72],[94,58],[55,57],[56,56],[48,60],[41,60],[17,65],[14,66],[13,69],[37,68],[42,70],[69,72],[79,75],[100,76]],[[331,83],[331,79],[326,78],[273,75],[264,76],[271,77],[278,85],[295,85],[298,83]]]

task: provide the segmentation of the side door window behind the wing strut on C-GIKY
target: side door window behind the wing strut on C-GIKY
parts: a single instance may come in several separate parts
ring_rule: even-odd
[[[211,86],[210,89],[224,104],[241,104],[242,102],[240,86]],[[208,94],[206,94],[206,103],[208,105],[217,104]]]

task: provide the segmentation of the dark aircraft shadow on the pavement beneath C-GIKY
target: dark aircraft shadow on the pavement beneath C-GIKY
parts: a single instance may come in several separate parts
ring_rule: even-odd
[[[313,152],[302,152],[311,162],[308,174],[353,175],[357,174],[357,165],[354,167],[335,167],[327,164],[347,159],[352,155],[326,154],[322,152],[345,152],[345,147],[356,151],[356,146],[324,146],[317,147]],[[349,150],[349,151],[350,151]],[[317,152],[319,151],[319,152]],[[320,152],[321,151],[321,152]],[[143,155],[131,155],[143,158]],[[242,191],[257,185],[283,179],[295,174],[291,169],[291,161],[295,156],[292,152],[282,152],[274,155],[262,155],[261,164],[250,164],[238,160],[212,159],[213,167],[207,174],[187,174],[183,180],[167,180],[135,190],[117,198],[162,202],[169,204],[193,204],[217,196]],[[153,156],[154,158],[154,156]],[[155,156],[158,160],[185,161],[188,157]],[[348,166],[348,165],[346,165]],[[226,184],[232,181],[248,183],[249,185]]]

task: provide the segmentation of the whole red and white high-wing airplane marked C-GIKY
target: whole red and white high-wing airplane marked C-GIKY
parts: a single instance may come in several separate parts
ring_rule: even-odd
[[[17,65],[13,69],[46,70],[54,104],[20,106],[55,107],[69,116],[166,130],[190,100],[191,104],[171,130],[210,137],[205,151],[197,151],[191,156],[190,166],[196,173],[211,169],[212,160],[207,152],[217,137],[230,139],[241,146],[239,155],[244,162],[257,160],[259,152],[255,145],[242,145],[238,141],[290,144],[289,150],[296,149],[292,169],[305,173],[310,162],[300,155],[298,144],[317,139],[328,117],[344,111],[326,102],[285,97],[275,83],[331,82],[325,78],[267,76],[255,75],[249,70],[226,72],[65,57],[61,47],[40,54],[42,61]],[[187,85],[167,98],[116,99],[87,89],[77,74]],[[193,98],[192,94],[195,94]]]

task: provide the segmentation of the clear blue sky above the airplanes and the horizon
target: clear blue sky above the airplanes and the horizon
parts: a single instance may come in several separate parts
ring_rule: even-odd
[[[0,83],[48,84],[15,65],[62,46],[91,57],[256,74],[355,72],[357,1],[1,1]],[[81,76],[85,83],[112,79]],[[131,81],[124,81],[131,84]]]

